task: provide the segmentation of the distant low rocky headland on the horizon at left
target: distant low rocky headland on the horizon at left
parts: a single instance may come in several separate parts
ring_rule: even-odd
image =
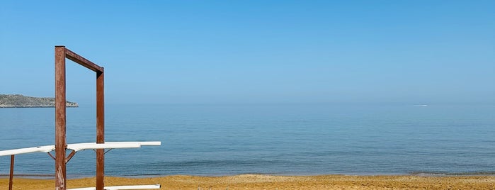
[[[67,101],[67,107],[79,107]],[[55,107],[55,98],[37,98],[21,94],[0,94],[0,108],[50,108]]]

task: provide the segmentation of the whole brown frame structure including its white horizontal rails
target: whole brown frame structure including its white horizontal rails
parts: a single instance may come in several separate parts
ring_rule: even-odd
[[[93,72],[96,72],[96,143],[77,143],[67,145],[66,140],[66,80],[65,59],[72,60]],[[105,107],[104,107],[104,79],[103,67],[86,60],[81,55],[65,48],[63,45],[55,46],[55,145],[38,147],[18,148],[12,150],[0,150],[0,156],[11,155],[11,169],[8,189],[13,184],[14,155],[45,152],[55,160],[55,189],[67,190],[67,162],[79,150],[96,150],[96,190],[105,189],[159,189],[160,185],[137,185],[137,186],[107,186],[105,187],[105,149],[141,147],[142,145],[161,145],[159,141],[144,142],[107,142],[105,143]],[[72,152],[66,157],[67,149]],[[50,154],[55,150],[55,157]],[[108,152],[108,151],[107,151]],[[88,189],[88,188],[82,188]]]

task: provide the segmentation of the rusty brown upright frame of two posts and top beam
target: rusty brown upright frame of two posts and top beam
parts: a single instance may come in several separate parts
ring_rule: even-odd
[[[96,72],[96,143],[105,143],[104,72],[93,62],[67,49],[55,46],[55,189],[67,189],[66,140],[66,81],[65,58]],[[96,190],[103,190],[105,178],[105,150],[96,150]]]

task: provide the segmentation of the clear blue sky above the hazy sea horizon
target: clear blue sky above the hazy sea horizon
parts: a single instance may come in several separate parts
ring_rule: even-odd
[[[55,96],[55,45],[110,104],[495,102],[495,1],[0,1],[0,94]]]

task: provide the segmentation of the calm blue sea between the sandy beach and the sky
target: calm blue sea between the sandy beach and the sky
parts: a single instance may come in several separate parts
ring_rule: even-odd
[[[0,150],[52,145],[55,108],[0,108]],[[67,108],[68,143],[94,142],[95,107]],[[107,105],[106,140],[159,140],[111,150],[106,174],[495,174],[495,105]],[[93,176],[92,150],[69,162]],[[10,157],[0,157],[8,174]],[[54,173],[45,153],[16,174]]]

